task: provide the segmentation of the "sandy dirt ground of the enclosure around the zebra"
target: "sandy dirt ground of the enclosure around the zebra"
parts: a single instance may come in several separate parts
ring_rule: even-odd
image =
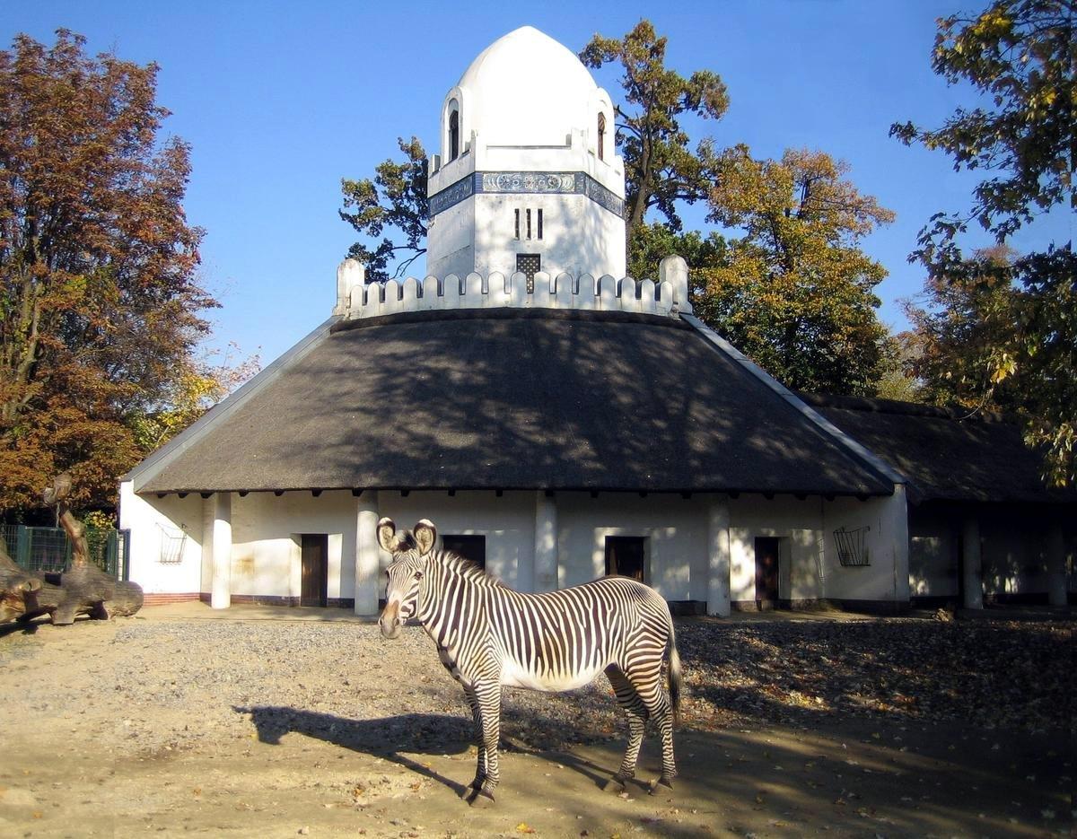
[[[965,718],[847,712],[825,685],[808,700],[786,686],[782,702],[725,713],[708,704],[701,677],[704,663],[728,662],[694,663],[701,654],[690,652],[709,632],[806,640],[836,625],[745,623],[738,635],[686,621],[689,702],[672,793],[600,791],[624,747],[606,685],[557,699],[512,691],[498,802],[478,810],[460,800],[475,760],[465,705],[421,630],[382,642],[356,623],[168,610],[2,628],[0,835],[1074,835],[1072,655],[1053,661],[1071,674],[1061,693],[1057,682],[1022,687],[1033,704],[1040,693],[1064,703],[1044,725],[1003,715],[1006,726],[989,728],[975,690]],[[999,632],[1016,649],[1046,643],[1016,624]],[[1065,629],[1050,637],[1048,655],[1072,654]],[[606,700],[609,712],[598,710]],[[962,707],[960,691],[953,701]],[[825,713],[812,707],[823,703]],[[657,774],[657,752],[648,738],[643,781]]]

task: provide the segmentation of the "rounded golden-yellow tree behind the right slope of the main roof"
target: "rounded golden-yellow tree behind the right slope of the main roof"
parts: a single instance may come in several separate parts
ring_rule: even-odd
[[[723,264],[703,271],[697,313],[786,386],[868,393],[885,330],[873,289],[886,276],[859,241],[894,214],[843,180],[823,152],[756,160],[726,150],[710,221],[740,228]]]

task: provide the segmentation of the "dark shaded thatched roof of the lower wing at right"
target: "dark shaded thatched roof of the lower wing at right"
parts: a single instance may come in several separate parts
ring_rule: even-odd
[[[798,395],[908,478],[913,503],[1077,502],[1073,490],[1047,489],[1039,456],[1009,418],[891,400]]]

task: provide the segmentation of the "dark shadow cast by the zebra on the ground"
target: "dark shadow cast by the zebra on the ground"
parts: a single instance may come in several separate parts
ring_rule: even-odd
[[[286,705],[234,705],[237,714],[247,714],[257,729],[258,742],[279,745],[288,733],[299,733],[333,745],[362,752],[398,764],[424,778],[436,781],[462,796],[465,784],[446,778],[407,755],[460,755],[475,741],[471,719],[453,714],[398,714],[376,719],[351,719]],[[610,777],[589,760],[564,752],[546,752],[503,737],[502,752],[517,752],[551,763],[559,763],[589,778],[597,786]],[[467,779],[471,780],[470,778]]]

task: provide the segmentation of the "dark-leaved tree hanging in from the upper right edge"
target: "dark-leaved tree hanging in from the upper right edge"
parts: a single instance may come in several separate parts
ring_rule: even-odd
[[[1005,264],[966,260],[969,224],[998,244],[1037,215],[1068,201],[1073,183],[1074,8],[1071,0],[997,0],[975,17],[939,20],[932,67],[948,83],[967,82],[990,107],[959,108],[938,129],[895,123],[891,135],[953,157],[954,168],[990,174],[963,213],[940,212],[921,230],[912,258],[929,282],[1013,286],[1008,322],[990,355],[984,389],[1015,377],[1023,395],[1025,439],[1045,451],[1045,478],[1077,479],[1077,258],[1073,242],[1046,242]],[[988,394],[984,393],[984,397]]]

